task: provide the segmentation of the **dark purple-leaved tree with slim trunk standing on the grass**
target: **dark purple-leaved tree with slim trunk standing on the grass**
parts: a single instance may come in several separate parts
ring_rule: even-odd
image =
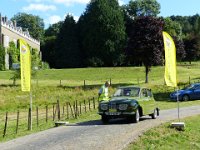
[[[132,27],[127,54],[134,62],[144,64],[145,83],[148,83],[151,66],[163,62],[162,29],[163,22],[151,16],[136,18]]]

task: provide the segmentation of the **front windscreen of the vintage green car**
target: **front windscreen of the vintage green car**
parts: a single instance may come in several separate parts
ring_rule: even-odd
[[[139,96],[139,88],[119,88],[115,92],[113,96],[131,96],[138,97]]]

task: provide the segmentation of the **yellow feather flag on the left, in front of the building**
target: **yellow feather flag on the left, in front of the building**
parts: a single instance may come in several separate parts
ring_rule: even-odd
[[[20,45],[20,68],[21,68],[21,89],[30,92],[31,90],[31,56],[29,45],[22,39]]]

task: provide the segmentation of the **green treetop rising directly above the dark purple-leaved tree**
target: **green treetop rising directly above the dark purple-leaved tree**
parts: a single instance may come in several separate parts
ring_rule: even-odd
[[[160,13],[160,4],[156,0],[130,0],[128,4],[130,16],[157,16]]]

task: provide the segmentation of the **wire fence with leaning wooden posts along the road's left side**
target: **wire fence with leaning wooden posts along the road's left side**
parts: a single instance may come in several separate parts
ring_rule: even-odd
[[[77,119],[80,115],[92,111],[98,107],[97,98],[88,98],[84,101],[74,101],[37,106],[32,109],[18,110],[16,112],[6,112],[0,114],[0,135],[2,137],[16,135],[24,131],[44,127],[48,123],[54,124],[56,121],[67,121]],[[31,124],[32,121],[32,124]]]

